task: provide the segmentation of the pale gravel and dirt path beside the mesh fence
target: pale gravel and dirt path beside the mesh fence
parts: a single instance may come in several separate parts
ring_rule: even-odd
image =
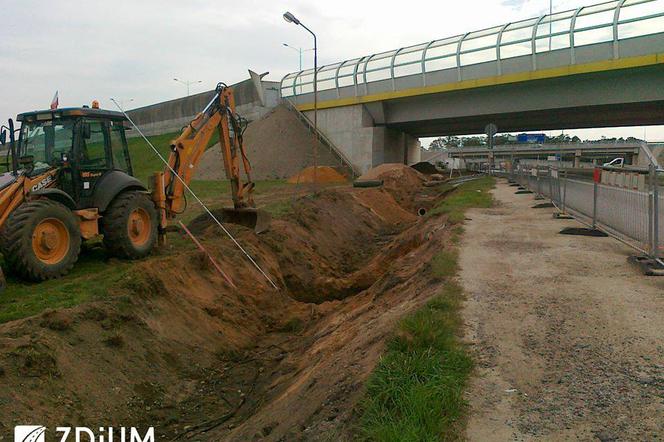
[[[468,439],[664,440],[664,278],[514,192],[467,215]]]

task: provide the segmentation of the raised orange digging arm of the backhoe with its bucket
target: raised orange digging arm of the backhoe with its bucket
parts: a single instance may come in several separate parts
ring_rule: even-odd
[[[257,231],[265,230],[269,222],[267,216],[254,209],[252,193],[255,184],[251,181],[251,165],[242,138],[245,127],[246,121],[235,113],[233,90],[220,83],[205,109],[171,142],[168,167],[153,178],[153,200],[160,211],[162,232],[168,220],[186,208],[186,186],[195,176],[215,130],[219,133],[224,172],[230,181],[233,199],[233,209],[224,209],[222,217]],[[246,181],[242,179],[240,164],[244,168]]]

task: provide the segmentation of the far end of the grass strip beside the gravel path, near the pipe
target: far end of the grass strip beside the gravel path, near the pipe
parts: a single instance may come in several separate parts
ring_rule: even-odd
[[[429,211],[429,215],[446,214],[450,222],[462,223],[465,211],[471,207],[491,207],[493,202],[489,191],[495,181],[491,177],[469,181],[459,185],[455,192]]]

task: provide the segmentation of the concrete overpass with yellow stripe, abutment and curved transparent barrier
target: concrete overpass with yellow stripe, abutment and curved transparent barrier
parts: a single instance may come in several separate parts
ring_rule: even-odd
[[[613,0],[318,70],[319,126],[360,168],[417,137],[664,123],[664,0]],[[306,115],[313,70],[281,81]]]

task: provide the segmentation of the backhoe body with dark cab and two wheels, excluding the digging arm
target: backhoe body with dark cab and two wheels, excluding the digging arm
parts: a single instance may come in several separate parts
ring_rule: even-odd
[[[152,251],[157,210],[132,176],[122,113],[67,108],[26,112],[18,121],[20,129],[10,121],[0,135],[7,147],[0,251],[12,273],[32,281],[61,277],[78,260],[81,242],[98,235],[113,256]]]

